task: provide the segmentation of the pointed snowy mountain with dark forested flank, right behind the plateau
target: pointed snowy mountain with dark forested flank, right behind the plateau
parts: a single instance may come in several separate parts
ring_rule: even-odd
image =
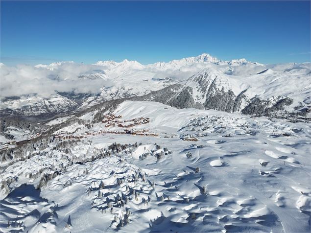
[[[269,67],[248,64],[243,70],[239,66],[209,64],[187,80],[136,99],[177,108],[307,116],[311,109],[310,64],[289,65],[282,70],[279,66]]]

